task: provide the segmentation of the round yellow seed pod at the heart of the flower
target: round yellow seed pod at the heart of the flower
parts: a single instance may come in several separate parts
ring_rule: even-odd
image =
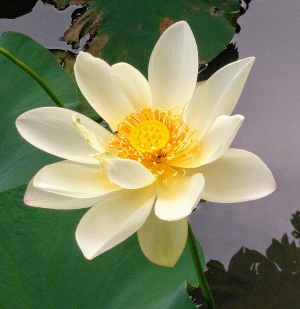
[[[142,153],[153,153],[165,146],[170,133],[167,127],[157,120],[145,120],[137,124],[129,134],[132,147]]]

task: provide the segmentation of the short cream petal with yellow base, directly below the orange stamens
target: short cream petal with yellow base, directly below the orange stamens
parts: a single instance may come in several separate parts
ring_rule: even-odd
[[[204,189],[204,177],[195,174],[191,177],[178,174],[176,182],[167,185],[157,182],[157,200],[155,214],[167,221],[179,220],[187,217],[200,201]]]

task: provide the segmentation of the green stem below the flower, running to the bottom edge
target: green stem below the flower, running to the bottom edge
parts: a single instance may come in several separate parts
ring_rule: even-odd
[[[189,224],[188,224],[188,247],[189,247],[191,258],[193,260],[194,268],[196,270],[199,285],[204,295],[207,308],[215,309],[215,303],[213,300],[212,292],[210,291],[209,285],[204,275],[204,270],[201,266],[195,236]]]

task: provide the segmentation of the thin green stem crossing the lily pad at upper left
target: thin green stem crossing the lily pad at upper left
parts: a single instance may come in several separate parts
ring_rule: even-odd
[[[31,77],[33,77],[40,84],[40,86],[47,92],[49,97],[55,102],[57,106],[65,108],[63,102],[54,94],[54,92],[48,87],[48,85],[42,80],[42,78],[38,76],[38,74],[35,71],[30,69],[26,64],[24,64],[22,61],[17,59],[15,56],[13,56],[10,52],[8,52],[6,49],[2,47],[0,47],[0,53],[5,57],[7,57],[14,64],[16,64],[18,67],[20,67],[22,70],[24,70],[26,73],[28,73]]]

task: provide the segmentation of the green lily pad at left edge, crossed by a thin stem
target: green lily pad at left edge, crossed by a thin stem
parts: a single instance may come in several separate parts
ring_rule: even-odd
[[[73,79],[51,53],[33,39],[5,32],[0,46],[33,69],[70,109],[77,108]],[[42,166],[57,161],[28,144],[17,132],[22,113],[54,102],[31,76],[0,54],[0,191],[28,183]]]

